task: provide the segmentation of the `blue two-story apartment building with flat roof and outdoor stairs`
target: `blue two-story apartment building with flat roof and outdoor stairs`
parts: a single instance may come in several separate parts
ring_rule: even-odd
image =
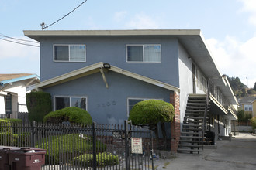
[[[77,106],[88,110],[93,121],[123,124],[141,100],[171,102],[175,119],[167,128],[172,151],[177,151],[178,144],[180,151],[195,149],[204,127],[214,131],[216,138],[228,135],[230,120],[237,119],[236,97],[200,30],[24,34],[40,42],[42,82],[29,90],[50,93],[53,110]]]

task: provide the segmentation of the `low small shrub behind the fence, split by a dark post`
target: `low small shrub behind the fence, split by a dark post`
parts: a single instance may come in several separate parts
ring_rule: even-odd
[[[93,155],[84,154],[73,158],[73,163],[83,165],[84,167],[92,167]],[[117,165],[119,164],[119,158],[116,155],[112,155],[109,152],[103,152],[96,155],[97,166]]]

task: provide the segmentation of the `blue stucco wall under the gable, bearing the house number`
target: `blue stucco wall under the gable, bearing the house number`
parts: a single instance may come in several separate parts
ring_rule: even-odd
[[[127,99],[154,98],[170,102],[170,90],[109,71],[106,88],[101,73],[81,77],[43,89],[54,96],[87,97],[87,110],[98,123],[123,124],[127,116]],[[53,104],[54,105],[54,104]]]

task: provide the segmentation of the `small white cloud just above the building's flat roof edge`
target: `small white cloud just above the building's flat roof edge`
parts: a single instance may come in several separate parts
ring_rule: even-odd
[[[126,23],[126,28],[130,29],[159,29],[158,23],[144,12],[134,15],[129,22]]]

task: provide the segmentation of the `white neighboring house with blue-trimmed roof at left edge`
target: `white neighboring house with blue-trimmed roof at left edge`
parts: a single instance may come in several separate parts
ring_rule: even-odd
[[[26,87],[39,82],[36,74],[0,74],[0,114],[17,118],[19,112],[27,112]]]

